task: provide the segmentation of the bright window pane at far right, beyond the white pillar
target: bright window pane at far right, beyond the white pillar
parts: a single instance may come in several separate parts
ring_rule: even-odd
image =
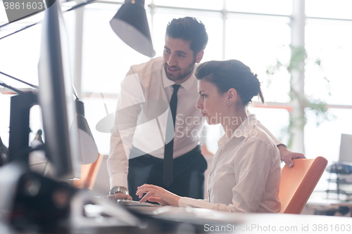
[[[306,50],[310,63],[306,67],[305,89],[309,96],[329,104],[352,105],[351,98],[346,96],[352,86],[351,41],[352,20],[307,20]],[[321,60],[320,67],[314,64],[315,60]]]

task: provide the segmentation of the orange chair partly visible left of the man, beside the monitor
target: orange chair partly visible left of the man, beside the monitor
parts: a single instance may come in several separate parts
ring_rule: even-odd
[[[96,176],[103,160],[103,155],[99,154],[98,159],[91,164],[81,165],[81,178],[80,180],[73,181],[73,187],[75,188],[86,188],[93,190]]]

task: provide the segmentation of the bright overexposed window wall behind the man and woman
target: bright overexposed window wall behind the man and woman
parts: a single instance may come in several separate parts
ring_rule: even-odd
[[[330,107],[328,113],[336,116],[336,119],[332,118],[331,121],[316,126],[314,112],[306,110],[306,157],[322,155],[332,162],[339,157],[341,133],[351,134],[352,131],[348,121],[352,117],[352,101],[347,96],[352,86],[351,72],[348,69],[352,64],[352,16],[349,11],[352,3],[349,0],[336,0],[333,3],[327,0],[305,2],[306,26],[299,32],[305,33],[308,53],[305,93],[310,98],[320,98],[327,102]],[[165,28],[172,18],[187,15],[199,18],[206,25],[209,35],[202,62],[238,59],[249,65],[263,82],[262,89],[269,107],[252,107],[251,112],[256,113],[258,119],[286,143],[287,136],[282,134],[282,129],[289,122],[288,112],[284,108],[290,105],[287,95],[290,77],[287,71],[282,70],[269,79],[265,71],[268,66],[275,65],[276,60],[283,63],[289,61],[289,44],[291,38],[296,36],[291,34],[294,3],[293,0],[148,0],[146,12],[156,56],[162,55]],[[99,133],[95,126],[108,113],[115,111],[120,82],[130,65],[149,60],[127,46],[111,30],[109,21],[121,4],[122,1],[109,0],[84,7],[82,100],[99,152],[103,154],[108,154],[110,134]],[[66,3],[64,7],[71,5]],[[38,14],[15,22],[1,29],[0,37],[31,22],[37,22],[42,17],[43,14]],[[70,22],[67,26],[70,41],[73,41],[75,14],[65,14],[65,18]],[[0,4],[0,24],[6,22],[4,6]],[[37,84],[40,27],[37,25],[0,40],[1,72]],[[320,63],[320,66],[316,62]],[[25,85],[2,75],[0,79],[12,86],[25,88]],[[6,136],[8,138],[10,96],[0,94],[3,108],[0,116],[0,134],[3,139],[6,139]],[[279,103],[282,109],[270,108],[273,107],[272,103]],[[344,105],[344,108],[339,108],[338,105]],[[39,127],[39,124],[34,126]],[[220,128],[207,126],[207,129],[207,143],[210,151],[215,152]],[[6,143],[6,140],[4,142]]]

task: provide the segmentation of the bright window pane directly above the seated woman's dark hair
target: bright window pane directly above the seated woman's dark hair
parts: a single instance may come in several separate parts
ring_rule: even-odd
[[[289,101],[289,74],[280,72],[271,84],[265,73],[276,60],[288,61],[291,32],[289,18],[230,15],[226,22],[225,59],[237,59],[258,74],[265,100]]]

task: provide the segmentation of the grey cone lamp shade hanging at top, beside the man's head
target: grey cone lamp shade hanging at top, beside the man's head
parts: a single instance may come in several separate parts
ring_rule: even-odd
[[[155,56],[144,0],[125,0],[110,25],[115,34],[135,51],[144,56]]]

